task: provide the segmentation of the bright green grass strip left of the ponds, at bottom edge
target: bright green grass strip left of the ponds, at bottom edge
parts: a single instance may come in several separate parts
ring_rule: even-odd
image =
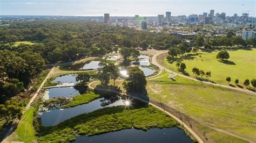
[[[31,107],[24,113],[18,127],[11,136],[12,140],[23,142],[36,141],[35,131],[33,128],[33,111],[34,108]]]

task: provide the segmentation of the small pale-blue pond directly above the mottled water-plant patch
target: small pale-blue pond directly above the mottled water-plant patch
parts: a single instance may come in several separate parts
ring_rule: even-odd
[[[73,97],[79,95],[79,91],[73,87],[49,88],[45,91],[44,99],[55,97]]]

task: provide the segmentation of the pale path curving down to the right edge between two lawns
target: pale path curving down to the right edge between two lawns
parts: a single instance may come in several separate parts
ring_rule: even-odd
[[[157,66],[159,68],[159,70],[166,70],[168,71],[169,73],[173,73],[173,74],[176,74],[178,76],[181,76],[181,77],[184,77],[184,78],[188,78],[190,80],[193,80],[193,81],[198,81],[198,82],[203,82],[203,83],[206,83],[206,84],[211,84],[211,85],[215,85],[215,86],[219,86],[219,87],[223,87],[223,88],[229,88],[229,89],[233,89],[233,90],[237,90],[237,91],[242,91],[242,92],[247,92],[249,94],[253,94],[253,95],[256,95],[256,92],[253,92],[253,91],[250,91],[250,90],[244,90],[244,89],[240,89],[240,88],[234,88],[234,87],[230,87],[228,85],[223,85],[223,84],[217,84],[217,83],[211,83],[211,82],[206,82],[206,81],[199,81],[197,80],[196,78],[194,77],[190,77],[190,76],[186,76],[186,75],[183,75],[183,74],[179,74],[179,73],[176,73],[175,71],[172,71],[170,69],[167,69],[163,66],[161,66],[158,62],[157,62],[157,56],[160,55],[160,54],[164,54],[164,53],[167,53],[168,51],[156,51],[156,54],[154,54],[152,56],[152,61],[151,63],[154,65],[154,66]],[[159,72],[160,72],[159,71]]]

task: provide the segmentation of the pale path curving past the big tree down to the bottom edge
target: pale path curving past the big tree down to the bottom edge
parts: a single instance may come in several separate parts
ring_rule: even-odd
[[[90,89],[94,89],[93,87],[91,87],[91,84],[93,84],[93,83],[95,83],[95,82],[98,82],[98,81],[93,81],[93,82],[89,83],[89,84],[88,84],[88,87],[89,87]],[[106,89],[98,89],[98,90],[112,91],[112,90],[106,90]],[[116,93],[119,93],[119,94],[127,95],[125,92],[117,92],[117,91],[112,91],[112,92],[116,92]],[[173,119],[175,119],[176,121],[178,121],[178,122],[180,123],[180,125],[182,125],[184,128],[186,128],[186,130],[187,130],[188,132],[190,132],[190,133],[193,135],[193,137],[197,139],[198,142],[200,142],[200,143],[201,143],[201,142],[204,142],[204,141],[192,130],[192,128],[190,128],[189,126],[187,126],[185,123],[183,123],[183,121],[181,121],[178,117],[174,116],[172,113],[170,113],[170,112],[164,110],[163,108],[160,108],[159,106],[157,106],[157,105],[155,105],[155,104],[153,104],[153,103],[151,103],[151,102],[145,101],[144,99],[141,99],[141,98],[138,98],[138,97],[135,97],[135,96],[132,96],[132,95],[127,95],[127,96],[130,96],[130,97],[132,97],[132,98],[138,99],[138,100],[140,100],[140,101],[142,101],[142,102],[145,102],[145,103],[149,103],[149,104],[150,104],[151,106],[153,106],[154,108],[157,108],[158,110],[165,112],[168,116],[172,117]]]

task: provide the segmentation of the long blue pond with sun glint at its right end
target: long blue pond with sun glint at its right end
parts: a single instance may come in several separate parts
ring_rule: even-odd
[[[87,104],[78,105],[67,109],[49,109],[38,113],[38,117],[42,119],[43,126],[56,125],[66,119],[78,116],[83,113],[89,113],[105,107],[124,105],[124,100],[120,97],[99,98]]]

